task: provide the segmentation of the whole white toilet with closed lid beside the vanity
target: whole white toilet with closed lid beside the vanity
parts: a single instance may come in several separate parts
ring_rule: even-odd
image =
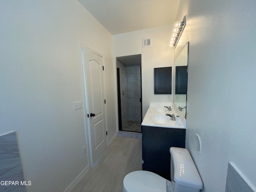
[[[171,147],[171,180],[149,171],[124,177],[124,192],[199,192],[202,180],[187,149]]]

